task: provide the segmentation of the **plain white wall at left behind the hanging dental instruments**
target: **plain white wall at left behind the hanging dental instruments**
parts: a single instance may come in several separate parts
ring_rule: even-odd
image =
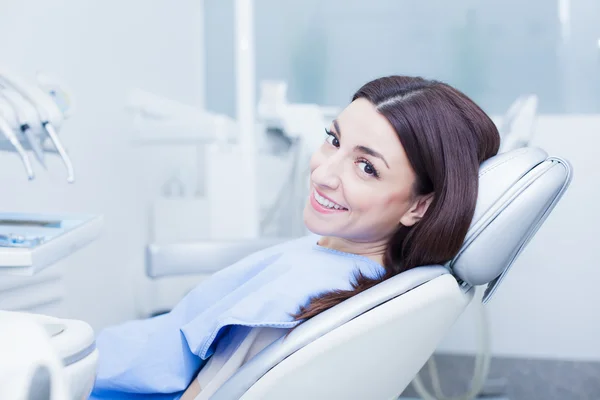
[[[0,153],[0,210],[105,216],[102,238],[61,262],[61,316],[100,328],[135,315],[132,282],[142,273],[149,190],[158,184],[152,173],[180,154],[163,149],[153,163],[141,162],[148,152],[128,144],[126,95],[140,87],[203,104],[202,31],[201,0],[0,3],[0,66],[28,77],[54,73],[77,102],[61,132],[76,183],[66,183],[55,157],[28,182],[17,157]]]

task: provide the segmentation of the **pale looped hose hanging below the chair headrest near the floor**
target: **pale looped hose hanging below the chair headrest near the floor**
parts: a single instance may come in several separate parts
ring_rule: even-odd
[[[491,363],[490,324],[487,310],[483,303],[477,301],[475,304],[479,317],[479,346],[478,352],[475,355],[475,368],[473,378],[471,379],[471,387],[463,395],[456,397],[444,395],[435,358],[432,356],[427,361],[427,367],[429,369],[429,374],[431,375],[431,384],[433,386],[434,394],[431,394],[431,392],[425,388],[425,384],[419,373],[417,373],[412,381],[415,391],[424,400],[473,400],[483,389],[486,379],[488,378]]]

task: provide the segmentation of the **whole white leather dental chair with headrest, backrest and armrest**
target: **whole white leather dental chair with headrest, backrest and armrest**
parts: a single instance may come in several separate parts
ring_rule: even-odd
[[[453,260],[403,272],[301,324],[211,399],[396,399],[464,312],[475,287],[486,285],[482,301],[489,301],[571,176],[568,162],[539,148],[487,160],[471,227]],[[151,245],[147,273],[155,279],[208,273],[278,241]]]

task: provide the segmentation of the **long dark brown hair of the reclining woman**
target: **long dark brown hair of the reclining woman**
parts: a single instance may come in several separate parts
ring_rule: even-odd
[[[311,318],[400,272],[443,264],[460,250],[477,201],[479,165],[494,156],[500,135],[486,113],[462,92],[438,81],[389,76],[365,84],[356,99],[370,101],[394,127],[416,173],[414,193],[434,193],[423,218],[398,226],[389,239],[385,272],[369,278],[357,272],[350,290],[310,299],[294,315]]]

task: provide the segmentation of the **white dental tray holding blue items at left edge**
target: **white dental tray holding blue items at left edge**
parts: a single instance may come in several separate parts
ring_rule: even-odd
[[[0,213],[0,275],[34,275],[91,243],[101,216]]]

